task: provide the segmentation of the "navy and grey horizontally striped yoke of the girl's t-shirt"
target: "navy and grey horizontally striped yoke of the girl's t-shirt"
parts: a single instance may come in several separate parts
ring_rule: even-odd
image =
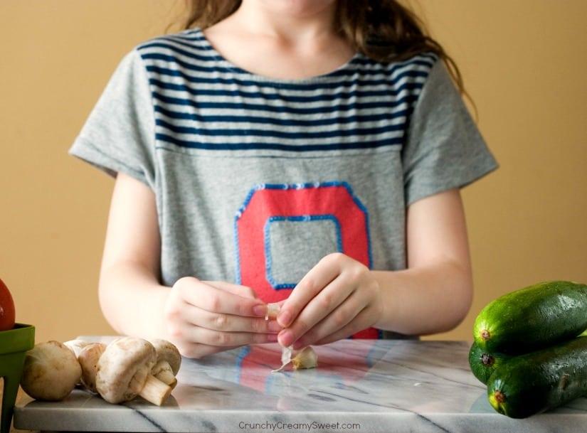
[[[376,63],[355,55],[332,73],[271,80],[222,58],[199,29],[137,48],[160,144],[206,151],[344,151],[403,143],[437,58]]]

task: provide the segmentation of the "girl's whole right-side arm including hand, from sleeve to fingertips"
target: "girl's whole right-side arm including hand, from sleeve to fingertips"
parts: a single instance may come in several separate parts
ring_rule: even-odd
[[[472,300],[460,191],[413,203],[406,230],[406,270],[370,271],[342,254],[324,257],[283,304],[280,343],[329,343],[369,326],[422,335],[459,324]]]

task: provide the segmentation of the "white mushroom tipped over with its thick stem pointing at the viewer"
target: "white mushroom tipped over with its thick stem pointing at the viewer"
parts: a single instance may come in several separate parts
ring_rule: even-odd
[[[171,387],[155,378],[151,370],[157,352],[142,338],[122,337],[108,344],[96,367],[96,389],[104,400],[121,403],[140,395],[162,405]]]

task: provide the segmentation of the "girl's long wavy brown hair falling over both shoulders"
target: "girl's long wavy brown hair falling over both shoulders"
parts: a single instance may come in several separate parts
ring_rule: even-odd
[[[241,0],[185,0],[182,29],[207,28],[233,14]],[[360,53],[379,62],[435,53],[447,65],[461,93],[462,75],[453,58],[429,36],[423,21],[396,0],[337,0],[335,28]]]

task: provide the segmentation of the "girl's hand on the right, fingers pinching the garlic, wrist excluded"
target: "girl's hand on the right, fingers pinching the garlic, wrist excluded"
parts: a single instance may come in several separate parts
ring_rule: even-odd
[[[282,305],[279,343],[302,348],[345,338],[379,321],[382,305],[369,268],[342,253],[327,255]]]

